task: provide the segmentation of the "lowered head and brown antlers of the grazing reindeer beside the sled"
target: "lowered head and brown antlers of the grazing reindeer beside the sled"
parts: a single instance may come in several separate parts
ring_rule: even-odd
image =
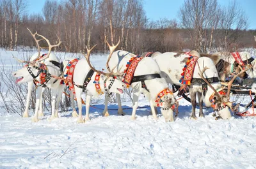
[[[211,87],[212,91],[214,91],[214,93],[212,94],[212,96],[210,97],[210,101],[212,103],[212,108],[214,109],[215,112],[218,113],[218,115],[220,115],[220,117],[222,119],[230,119],[231,114],[228,108],[230,108],[230,110],[232,110],[232,112],[237,112],[237,109],[239,107],[239,104],[237,104],[235,107],[233,107],[232,102],[230,101],[230,90],[231,90],[231,86],[232,83],[234,82],[234,80],[241,75],[241,73],[244,73],[244,71],[249,70],[252,67],[246,68],[245,70],[243,70],[243,68],[241,68],[241,71],[235,75],[232,80],[230,80],[230,82],[228,82],[228,89],[227,89],[227,93],[223,92],[221,89],[220,91],[217,91],[216,89],[214,89],[214,87],[212,87],[212,85],[208,82],[208,80],[205,79],[204,77],[204,72],[205,70],[209,69],[207,67],[204,67],[204,69],[201,71],[200,70],[200,66],[198,65],[199,71],[200,73],[198,73],[198,75],[200,75],[200,77],[205,81],[205,83],[207,85],[209,85],[209,87]]]

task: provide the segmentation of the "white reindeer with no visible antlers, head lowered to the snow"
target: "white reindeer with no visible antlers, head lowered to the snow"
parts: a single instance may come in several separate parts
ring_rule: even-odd
[[[119,42],[118,42],[119,43]],[[108,44],[109,45],[109,44]],[[113,52],[113,50],[110,50],[110,55],[113,53],[112,57],[108,58],[108,61],[106,63],[106,67],[110,71],[110,68],[115,68],[116,64],[118,66],[115,68],[115,70],[120,70],[124,72],[127,62],[131,59],[131,57],[136,57],[136,55],[131,54],[130,52],[124,51],[124,50],[118,50],[116,52]],[[144,76],[144,75],[152,75],[152,74],[159,74],[161,75],[161,71],[159,69],[159,66],[157,65],[157,62],[154,61],[154,59],[150,57],[144,57],[139,63],[134,71],[134,76]],[[168,89],[168,84],[166,83],[166,80],[164,78],[153,78],[150,80],[145,80],[145,87],[141,85],[141,82],[133,82],[131,84],[131,87],[133,89],[133,103],[132,103],[132,116],[131,119],[136,119],[136,109],[138,108],[138,98],[139,94],[142,92],[145,94],[145,96],[148,98],[150,102],[150,108],[152,111],[152,115],[154,119],[157,119],[156,110],[154,106],[156,106],[156,98],[158,97],[159,92],[163,91],[164,89]],[[124,115],[124,112],[122,110],[122,105],[120,101],[120,94],[116,94],[118,99],[118,114]],[[172,105],[175,103],[175,99],[173,97],[172,93],[164,95],[163,98],[161,98],[161,101],[163,101],[163,104],[160,105],[161,107],[161,113],[164,116],[164,119],[166,122],[168,121],[174,121],[173,120],[173,110]],[[108,114],[108,98],[106,96],[105,98],[105,109],[104,114]]]

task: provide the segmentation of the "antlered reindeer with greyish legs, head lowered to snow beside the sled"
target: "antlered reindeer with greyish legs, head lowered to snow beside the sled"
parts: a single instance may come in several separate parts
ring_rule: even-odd
[[[205,103],[206,107],[214,107],[214,111],[217,112],[222,119],[229,119],[231,117],[231,114],[228,108],[230,108],[232,111],[235,111],[239,106],[236,105],[236,107],[233,108],[232,103],[229,101],[232,82],[234,82],[235,78],[237,78],[239,75],[252,67],[245,70],[241,68],[241,72],[235,75],[232,80],[230,80],[228,84],[227,94],[221,95],[219,94],[219,92],[222,91],[221,82],[218,77],[218,71],[216,70],[214,62],[208,57],[200,57],[200,55],[198,56],[199,58],[197,60],[193,79],[191,81],[192,84],[189,87],[189,93],[192,103],[191,119],[196,119],[196,94],[198,96],[200,105],[200,117],[204,116],[202,112],[202,105],[203,103]],[[166,52],[164,54],[156,55],[154,59],[156,59],[157,64],[159,64],[159,68],[161,69],[162,75],[166,79],[166,82],[180,86],[181,84],[179,80],[182,77],[180,74],[182,73],[182,68],[184,67],[184,64],[186,64],[188,55],[177,54],[174,52]],[[200,67],[203,67],[204,69],[201,71]],[[207,84],[207,88],[210,88],[205,90],[204,84]]]

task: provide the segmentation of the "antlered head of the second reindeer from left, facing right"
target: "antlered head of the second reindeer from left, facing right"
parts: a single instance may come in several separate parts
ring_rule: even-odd
[[[106,43],[108,43],[108,41],[106,41]],[[109,43],[108,43],[109,50],[110,50],[108,61],[111,58],[111,55],[113,54],[113,52],[115,51],[115,48],[119,45],[119,43],[120,43],[120,39],[119,39],[117,45],[115,45],[115,46],[110,46]],[[96,45],[94,45],[92,47],[92,49],[95,46]],[[88,62],[88,65],[90,66],[90,68],[93,71],[99,73],[101,75],[101,78],[104,79],[104,89],[105,89],[105,92],[107,94],[111,93],[111,92],[122,94],[124,92],[124,86],[125,85],[123,84],[123,82],[121,80],[117,79],[116,77],[121,77],[122,75],[124,75],[124,73],[120,73],[120,71],[117,71],[116,73],[114,73],[114,70],[115,70],[117,65],[111,70],[110,73],[106,73],[104,71],[95,70],[95,68],[93,68],[93,66],[92,66],[92,64],[90,62],[90,53],[91,53],[92,49],[88,49],[86,47],[87,54],[84,55],[84,57],[85,57],[86,61]]]

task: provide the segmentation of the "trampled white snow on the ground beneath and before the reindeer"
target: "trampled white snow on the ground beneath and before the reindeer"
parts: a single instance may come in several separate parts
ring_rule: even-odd
[[[0,50],[5,64],[17,64],[10,59],[12,54]],[[104,68],[105,61],[105,55],[92,57],[98,68]],[[77,124],[71,110],[51,122],[45,112],[36,123],[0,110],[0,168],[256,167],[256,117],[215,121],[209,108],[205,118],[193,121],[191,104],[184,99],[179,103],[179,117],[168,123],[161,114],[154,120],[149,108],[140,108],[132,121],[131,109],[124,110],[124,116],[111,110],[109,117],[102,117],[98,108],[104,105],[94,105],[91,121],[84,124]],[[131,105],[125,102],[123,108]],[[139,105],[148,105],[143,96]]]

